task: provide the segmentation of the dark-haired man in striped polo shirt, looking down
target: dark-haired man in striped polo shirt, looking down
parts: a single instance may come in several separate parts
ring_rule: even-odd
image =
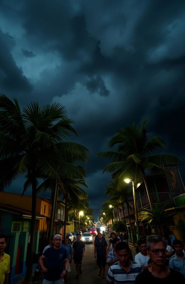
[[[134,284],[136,276],[143,271],[143,268],[140,264],[129,259],[129,246],[126,242],[116,244],[115,250],[119,261],[110,266],[107,284]]]

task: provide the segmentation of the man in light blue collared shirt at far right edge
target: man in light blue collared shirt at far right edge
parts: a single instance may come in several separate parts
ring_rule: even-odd
[[[185,277],[185,252],[183,251],[182,242],[180,240],[174,240],[173,247],[175,255],[170,258],[169,267],[181,272]]]

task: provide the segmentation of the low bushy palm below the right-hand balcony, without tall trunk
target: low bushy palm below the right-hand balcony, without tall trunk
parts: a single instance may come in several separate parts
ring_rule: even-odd
[[[147,224],[152,226],[154,229],[154,233],[156,235],[162,236],[161,227],[167,227],[169,223],[169,217],[173,214],[168,214],[165,211],[168,202],[164,202],[163,204],[158,205],[155,204],[155,207],[152,210],[144,208],[142,212],[140,212],[140,217],[143,218],[142,221],[148,221]]]

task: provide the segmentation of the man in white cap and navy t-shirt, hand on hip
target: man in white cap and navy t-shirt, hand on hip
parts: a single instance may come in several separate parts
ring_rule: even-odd
[[[62,237],[59,234],[55,235],[53,243],[54,246],[47,248],[39,259],[40,267],[44,273],[43,284],[62,284],[63,277],[68,272],[67,251],[65,248],[61,248]],[[45,266],[44,260],[46,260]]]

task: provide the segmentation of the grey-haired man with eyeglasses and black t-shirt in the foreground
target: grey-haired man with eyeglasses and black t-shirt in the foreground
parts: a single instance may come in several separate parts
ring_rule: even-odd
[[[151,259],[151,266],[138,274],[135,284],[174,284],[184,283],[184,276],[168,266],[166,263],[166,242],[162,237],[151,235],[147,238],[147,254]]]

